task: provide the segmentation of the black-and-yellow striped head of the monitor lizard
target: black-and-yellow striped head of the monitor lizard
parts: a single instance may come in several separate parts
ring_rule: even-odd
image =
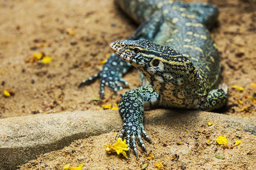
[[[169,46],[157,45],[148,40],[121,40],[110,46],[121,59],[139,69],[153,87],[156,87],[156,82],[179,86],[183,84],[182,81],[189,83],[196,77],[191,60]],[[159,88],[158,85],[156,89]]]

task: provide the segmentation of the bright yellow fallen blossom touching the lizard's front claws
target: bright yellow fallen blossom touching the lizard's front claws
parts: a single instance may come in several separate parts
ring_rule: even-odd
[[[114,143],[113,145],[104,144],[104,146],[107,153],[116,152],[117,155],[122,153],[122,155],[124,155],[124,157],[127,158],[125,150],[129,150],[129,149],[125,139],[123,141],[122,138],[118,138],[116,143]]]

